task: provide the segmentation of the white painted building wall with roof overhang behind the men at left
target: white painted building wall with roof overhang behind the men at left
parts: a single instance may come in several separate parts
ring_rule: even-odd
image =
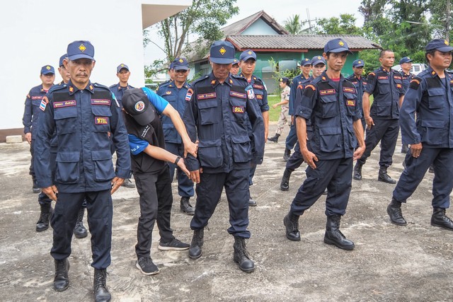
[[[156,5],[158,22],[190,6],[190,0],[20,0],[0,1],[0,129],[23,127],[23,104],[40,84],[40,68],[58,59],[74,40],[89,40],[96,66],[91,81],[117,83],[116,66],[125,63],[130,84],[144,85],[142,5]],[[149,23],[150,21],[148,21]],[[61,81],[57,73],[55,83]]]

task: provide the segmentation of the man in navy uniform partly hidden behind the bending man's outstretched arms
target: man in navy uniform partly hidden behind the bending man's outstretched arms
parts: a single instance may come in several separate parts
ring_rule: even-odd
[[[157,95],[164,98],[173,108],[175,108],[181,117],[184,115],[185,110],[185,95],[187,94],[189,85],[187,77],[190,69],[189,64],[185,58],[176,58],[173,60],[173,81],[167,85],[160,86],[157,90]],[[165,149],[173,154],[184,156],[184,145],[175,125],[170,117],[162,115],[162,126],[164,129]],[[173,163],[168,163],[170,166],[170,178],[173,180],[176,169],[176,178],[178,181],[178,194],[180,199],[180,210],[185,214],[193,215],[195,209],[189,202],[190,197],[193,197],[193,181]]]

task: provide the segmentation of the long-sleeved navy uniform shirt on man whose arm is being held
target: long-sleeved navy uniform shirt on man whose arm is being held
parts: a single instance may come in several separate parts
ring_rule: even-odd
[[[229,173],[250,169],[252,158],[263,161],[263,115],[254,93],[246,91],[249,86],[246,79],[231,74],[219,83],[212,72],[192,83],[183,122],[190,139],[199,142],[197,158],[188,154],[185,161],[188,170]]]

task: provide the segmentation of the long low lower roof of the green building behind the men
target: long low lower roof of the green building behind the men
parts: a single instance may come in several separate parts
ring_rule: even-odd
[[[237,50],[254,50],[260,52],[307,52],[322,50],[326,42],[342,38],[352,51],[376,50],[381,48],[360,35],[229,35],[226,41],[231,42]]]

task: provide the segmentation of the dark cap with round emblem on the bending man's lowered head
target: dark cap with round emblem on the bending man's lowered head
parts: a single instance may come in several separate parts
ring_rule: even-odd
[[[121,103],[122,108],[125,108],[127,113],[140,125],[146,126],[154,120],[154,110],[142,88],[126,89]]]

